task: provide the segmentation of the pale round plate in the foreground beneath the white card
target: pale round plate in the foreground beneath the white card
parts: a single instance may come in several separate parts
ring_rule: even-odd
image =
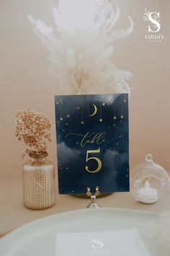
[[[100,208],[60,213],[28,223],[0,239],[1,256],[59,256],[58,234],[137,229],[158,214],[137,210]],[[70,256],[70,255],[67,255]],[[81,255],[79,255],[81,256]]]

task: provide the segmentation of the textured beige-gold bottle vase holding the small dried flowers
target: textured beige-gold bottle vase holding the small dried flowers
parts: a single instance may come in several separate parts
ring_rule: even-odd
[[[55,204],[55,168],[43,155],[30,154],[23,166],[23,204],[35,210],[50,208]]]

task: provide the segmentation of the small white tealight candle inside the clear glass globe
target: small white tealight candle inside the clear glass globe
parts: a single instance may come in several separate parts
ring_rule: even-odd
[[[143,203],[153,203],[158,200],[158,191],[150,187],[148,180],[143,189],[139,189],[138,200]]]

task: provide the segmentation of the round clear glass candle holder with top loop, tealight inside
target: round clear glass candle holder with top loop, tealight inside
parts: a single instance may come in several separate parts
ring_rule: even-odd
[[[151,154],[146,155],[145,160],[135,166],[132,176],[130,189],[133,197],[146,204],[156,202],[169,185],[169,174],[153,161]]]

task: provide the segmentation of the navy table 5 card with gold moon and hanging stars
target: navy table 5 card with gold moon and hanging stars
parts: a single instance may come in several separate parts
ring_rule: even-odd
[[[60,194],[129,191],[128,94],[57,95]]]

